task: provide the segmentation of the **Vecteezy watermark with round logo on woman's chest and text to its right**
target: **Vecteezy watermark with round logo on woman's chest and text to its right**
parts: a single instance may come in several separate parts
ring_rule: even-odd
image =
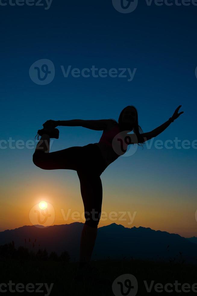
[[[147,149],[151,149],[154,142],[154,137],[147,141],[146,138],[143,140],[145,141],[144,145]],[[138,139],[136,134],[131,134],[129,130],[124,130],[118,133],[112,140],[112,148],[114,152],[119,156],[131,156],[136,153],[138,148]],[[132,144],[132,145],[131,145]],[[129,149],[128,149],[129,146]],[[193,140],[192,142],[189,140],[179,140],[178,137],[175,137],[174,140],[155,140],[154,147],[156,149],[197,149],[197,140]]]

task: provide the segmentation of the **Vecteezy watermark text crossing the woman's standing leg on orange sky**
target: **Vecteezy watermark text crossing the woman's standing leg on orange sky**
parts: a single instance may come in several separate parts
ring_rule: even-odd
[[[127,221],[129,220],[129,222],[127,222],[128,225],[131,225],[136,217],[137,212],[133,212],[133,215],[131,214],[131,212],[129,211],[111,211],[109,213],[102,211],[99,215],[100,219],[98,218],[98,211],[95,211],[95,209],[92,209],[92,211],[88,212],[78,212],[78,211],[73,211],[71,212],[72,209],[68,209],[67,213],[64,212],[64,209],[61,209],[61,214],[64,218],[64,221],[69,220],[69,218],[71,218],[71,220],[73,221],[79,221],[79,220],[83,220],[83,221],[89,221],[90,218],[93,221]],[[85,218],[86,216],[86,218]]]

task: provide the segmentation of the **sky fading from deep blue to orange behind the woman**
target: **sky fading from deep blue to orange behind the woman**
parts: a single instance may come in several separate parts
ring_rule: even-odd
[[[136,106],[139,125],[148,132],[182,105],[184,114],[154,139],[151,149],[138,147],[102,173],[102,211],[136,216],[132,224],[126,215],[126,221],[108,218],[99,226],[115,222],[197,236],[197,149],[154,146],[156,140],[196,139],[196,15],[197,6],[147,6],[145,1],[128,14],[115,10],[110,0],[53,0],[48,10],[0,6],[2,140],[36,143],[37,130],[48,119],[117,120],[127,105]],[[55,65],[55,78],[48,85],[38,85],[29,76],[30,66],[40,59]],[[61,66],[69,65],[81,70],[92,65],[136,68],[136,73],[130,82],[118,77],[64,78]],[[96,143],[102,135],[83,127],[59,130],[51,151]],[[53,205],[53,224],[74,222],[65,221],[62,211],[84,211],[77,172],[39,169],[32,162],[34,149],[7,146],[0,149],[0,230],[32,225],[30,209],[41,200]]]

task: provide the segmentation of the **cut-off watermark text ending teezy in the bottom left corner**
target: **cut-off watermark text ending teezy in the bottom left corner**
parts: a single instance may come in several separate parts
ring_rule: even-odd
[[[53,288],[54,283],[51,283],[50,286],[48,286],[47,283],[28,283],[27,285],[24,285],[23,283],[15,284],[12,281],[9,281],[9,283],[0,283],[0,293],[45,293],[45,296],[49,296],[51,294],[51,290]],[[44,289],[43,289],[44,288]],[[44,291],[45,290],[45,291]]]

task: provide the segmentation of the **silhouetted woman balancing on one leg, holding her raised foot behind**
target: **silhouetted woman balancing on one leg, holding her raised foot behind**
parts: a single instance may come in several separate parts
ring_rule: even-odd
[[[95,245],[102,207],[102,182],[100,175],[110,163],[120,156],[120,154],[124,154],[117,154],[117,151],[114,151],[112,140],[118,133],[121,134],[121,132],[124,133],[124,131],[133,130],[134,134],[129,134],[131,138],[130,144],[144,143],[159,135],[171,122],[178,118],[180,114],[183,113],[178,113],[180,107],[181,105],[164,124],[144,134],[140,133],[142,129],[138,125],[138,113],[133,105],[127,106],[121,111],[118,122],[114,119],[48,120],[43,124],[44,128],[38,130],[38,139],[39,136],[41,136],[41,139],[33,154],[33,163],[39,168],[47,170],[76,170],[79,176],[86,218],[80,242],[80,269],[83,270],[84,267],[89,266],[92,250]],[[92,130],[103,130],[103,134],[99,143],[92,143],[86,146],[74,146],[49,153],[50,138],[58,139],[59,137],[57,126],[81,126]],[[124,152],[125,151],[126,150],[124,150]]]

